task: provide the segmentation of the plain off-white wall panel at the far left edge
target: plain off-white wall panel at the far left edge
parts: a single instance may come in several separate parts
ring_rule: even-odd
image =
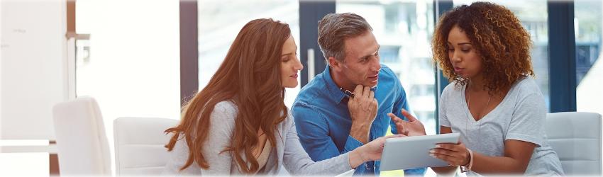
[[[1,1],[0,139],[54,139],[67,100],[65,0]]]

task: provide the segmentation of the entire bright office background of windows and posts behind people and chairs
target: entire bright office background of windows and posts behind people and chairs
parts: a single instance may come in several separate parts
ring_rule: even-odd
[[[206,85],[238,30],[255,18],[289,23],[304,86],[325,67],[317,21],[333,12],[365,17],[382,45],[382,63],[398,74],[411,110],[435,134],[447,81],[431,63],[431,35],[439,14],[471,2],[3,0],[0,171],[19,171],[19,163],[41,168],[35,175],[52,171],[51,108],[60,101],[96,98],[109,138],[118,117],[179,119],[180,105]],[[492,2],[514,11],[531,34],[549,112],[603,114],[602,1]],[[299,88],[287,89],[287,105]],[[30,160],[9,160],[23,158]]]

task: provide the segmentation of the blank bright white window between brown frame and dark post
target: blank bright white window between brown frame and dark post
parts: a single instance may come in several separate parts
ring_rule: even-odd
[[[98,101],[110,149],[116,118],[179,119],[179,2],[77,0],[76,6],[77,33],[89,34],[77,49],[83,52],[76,95]]]

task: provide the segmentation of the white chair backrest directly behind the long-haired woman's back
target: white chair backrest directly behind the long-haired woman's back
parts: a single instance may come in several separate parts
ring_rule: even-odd
[[[178,120],[166,118],[117,118],[114,120],[116,175],[158,176],[169,153],[165,144],[169,127]]]

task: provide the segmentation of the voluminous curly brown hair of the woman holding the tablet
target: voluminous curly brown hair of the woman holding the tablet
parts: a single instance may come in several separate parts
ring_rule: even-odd
[[[500,93],[515,81],[534,76],[530,57],[532,42],[519,19],[504,6],[475,2],[443,14],[433,34],[433,60],[448,81],[461,85],[467,82],[455,74],[448,57],[448,33],[455,25],[465,32],[482,57],[484,86],[489,94]]]

